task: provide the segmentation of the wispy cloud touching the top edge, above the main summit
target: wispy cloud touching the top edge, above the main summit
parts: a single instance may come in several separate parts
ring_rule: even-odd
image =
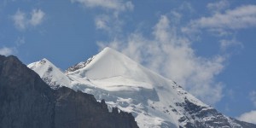
[[[86,9],[102,9],[102,12],[95,16],[95,26],[97,30],[107,32],[110,37],[118,35],[125,24],[125,20],[121,20],[119,15],[134,8],[131,1],[124,0],[71,0],[71,2],[80,3]]]

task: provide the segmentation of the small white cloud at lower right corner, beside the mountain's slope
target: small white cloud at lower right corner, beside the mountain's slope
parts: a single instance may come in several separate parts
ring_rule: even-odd
[[[237,117],[236,119],[256,124],[256,111],[253,110],[253,111],[248,112],[248,113],[242,113],[241,116]]]

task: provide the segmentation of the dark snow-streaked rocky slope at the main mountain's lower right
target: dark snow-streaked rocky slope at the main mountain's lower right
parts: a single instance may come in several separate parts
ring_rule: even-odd
[[[186,110],[186,117],[179,119],[179,121],[185,122],[187,121],[184,127],[186,128],[197,128],[197,127],[229,127],[229,128],[255,128],[256,125],[239,121],[232,118],[227,118],[222,113],[218,113],[218,111],[214,108],[204,108],[201,106],[195,105],[193,102],[189,102],[187,99],[181,105]],[[189,118],[188,118],[189,117]],[[198,121],[192,124],[189,119],[204,119],[205,121]],[[217,123],[218,122],[218,123]]]

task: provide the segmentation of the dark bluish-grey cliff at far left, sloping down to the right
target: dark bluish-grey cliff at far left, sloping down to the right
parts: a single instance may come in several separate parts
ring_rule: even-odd
[[[55,98],[15,56],[0,56],[0,127],[54,128]]]

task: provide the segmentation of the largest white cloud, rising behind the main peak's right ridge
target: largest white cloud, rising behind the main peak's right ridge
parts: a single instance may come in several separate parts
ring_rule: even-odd
[[[223,85],[214,82],[214,77],[223,70],[225,58],[195,55],[192,42],[178,34],[175,25],[171,25],[166,15],[162,15],[154,26],[153,38],[145,38],[142,33],[135,32],[127,39],[114,39],[108,46],[177,81],[202,101],[218,102],[223,96]]]

